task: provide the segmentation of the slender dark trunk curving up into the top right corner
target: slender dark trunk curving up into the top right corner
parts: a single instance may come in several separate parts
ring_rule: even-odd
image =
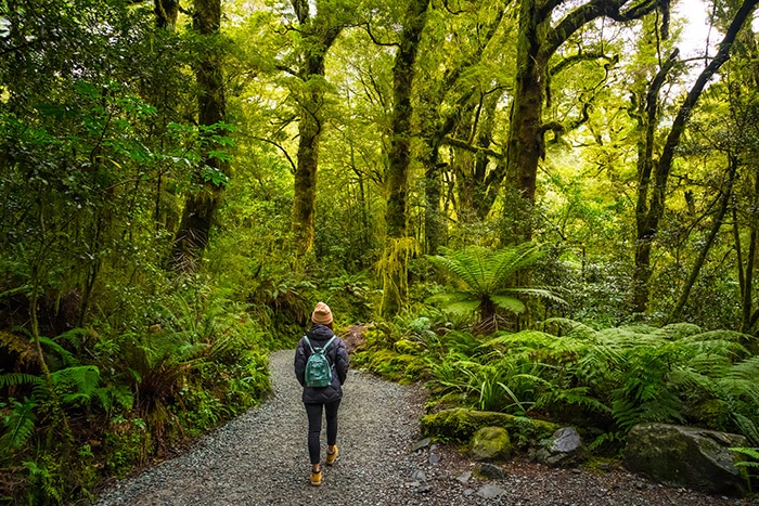
[[[743,24],[749,17],[754,8],[759,3],[759,0],[744,0],[741,9],[733,17],[728,31],[725,33],[722,42],[720,42],[719,51],[715,55],[709,65],[702,70],[696,79],[696,82],[691,88],[691,91],[685,96],[682,105],[678,109],[678,115],[674,117],[672,127],[665,141],[665,146],[661,151],[658,164],[656,164],[655,172],[653,173],[653,187],[651,196],[646,200],[646,209],[642,218],[639,218],[638,236],[639,242],[635,248],[635,270],[633,273],[633,294],[636,312],[644,312],[648,306],[648,281],[651,278],[651,244],[658,232],[659,221],[665,212],[665,200],[667,197],[667,182],[669,173],[672,169],[672,160],[674,151],[680,144],[680,139],[685,131],[687,119],[696,106],[706,83],[720,69],[720,67],[730,60],[730,50],[733,47],[737,33],[743,27]],[[640,207],[638,210],[641,212]],[[642,223],[642,225],[640,224]]]

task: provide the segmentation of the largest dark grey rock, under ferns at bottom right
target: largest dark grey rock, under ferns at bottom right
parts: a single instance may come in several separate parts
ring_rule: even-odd
[[[746,438],[669,424],[640,424],[625,447],[625,467],[671,486],[711,494],[743,496],[746,476],[735,464],[743,458],[731,446],[746,446]]]

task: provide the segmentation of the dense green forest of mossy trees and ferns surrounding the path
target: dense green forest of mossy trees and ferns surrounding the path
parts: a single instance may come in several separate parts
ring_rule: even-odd
[[[438,407],[756,473],[757,3],[0,0],[0,502],[262,402],[320,300]]]

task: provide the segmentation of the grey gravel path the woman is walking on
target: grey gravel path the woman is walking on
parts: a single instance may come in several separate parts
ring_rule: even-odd
[[[306,411],[294,351],[270,360],[272,398],[186,452],[112,483],[99,505],[747,505],[653,483],[623,469],[555,470],[514,460],[504,477],[475,476],[453,447],[414,451],[424,392],[351,371],[339,411],[340,456],[309,483]],[[325,443],[322,441],[322,453]]]

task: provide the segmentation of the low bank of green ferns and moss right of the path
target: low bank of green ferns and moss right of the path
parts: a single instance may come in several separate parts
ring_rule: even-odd
[[[438,406],[548,417],[592,427],[593,447],[619,444],[643,421],[684,423],[759,436],[755,338],[692,324],[595,330],[552,319],[539,330],[487,340],[428,317],[366,334],[357,362],[383,375],[426,378]],[[419,371],[417,364],[423,367]]]

